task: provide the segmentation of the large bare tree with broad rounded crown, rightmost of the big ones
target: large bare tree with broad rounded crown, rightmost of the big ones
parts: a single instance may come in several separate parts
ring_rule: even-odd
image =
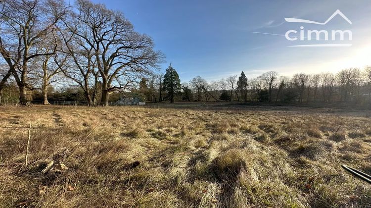
[[[102,104],[108,105],[111,91],[127,89],[159,67],[163,54],[153,51],[152,39],[135,32],[121,12],[90,0],[77,0],[76,9],[72,22],[64,21],[64,26],[92,49],[102,82]]]

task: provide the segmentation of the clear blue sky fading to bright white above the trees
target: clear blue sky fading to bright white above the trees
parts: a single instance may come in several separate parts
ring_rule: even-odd
[[[280,75],[337,72],[371,65],[370,0],[93,0],[120,10],[136,31],[151,36],[182,82],[193,77],[212,81],[239,75],[253,78],[267,71]],[[285,17],[325,22],[286,22]],[[350,30],[352,41],[289,41],[307,30]],[[257,33],[255,33],[257,32]],[[269,34],[262,34],[269,33]],[[275,35],[272,35],[275,34]],[[293,34],[293,35],[292,35]],[[313,36],[314,37],[314,36]],[[305,44],[352,44],[351,47],[289,47]]]

